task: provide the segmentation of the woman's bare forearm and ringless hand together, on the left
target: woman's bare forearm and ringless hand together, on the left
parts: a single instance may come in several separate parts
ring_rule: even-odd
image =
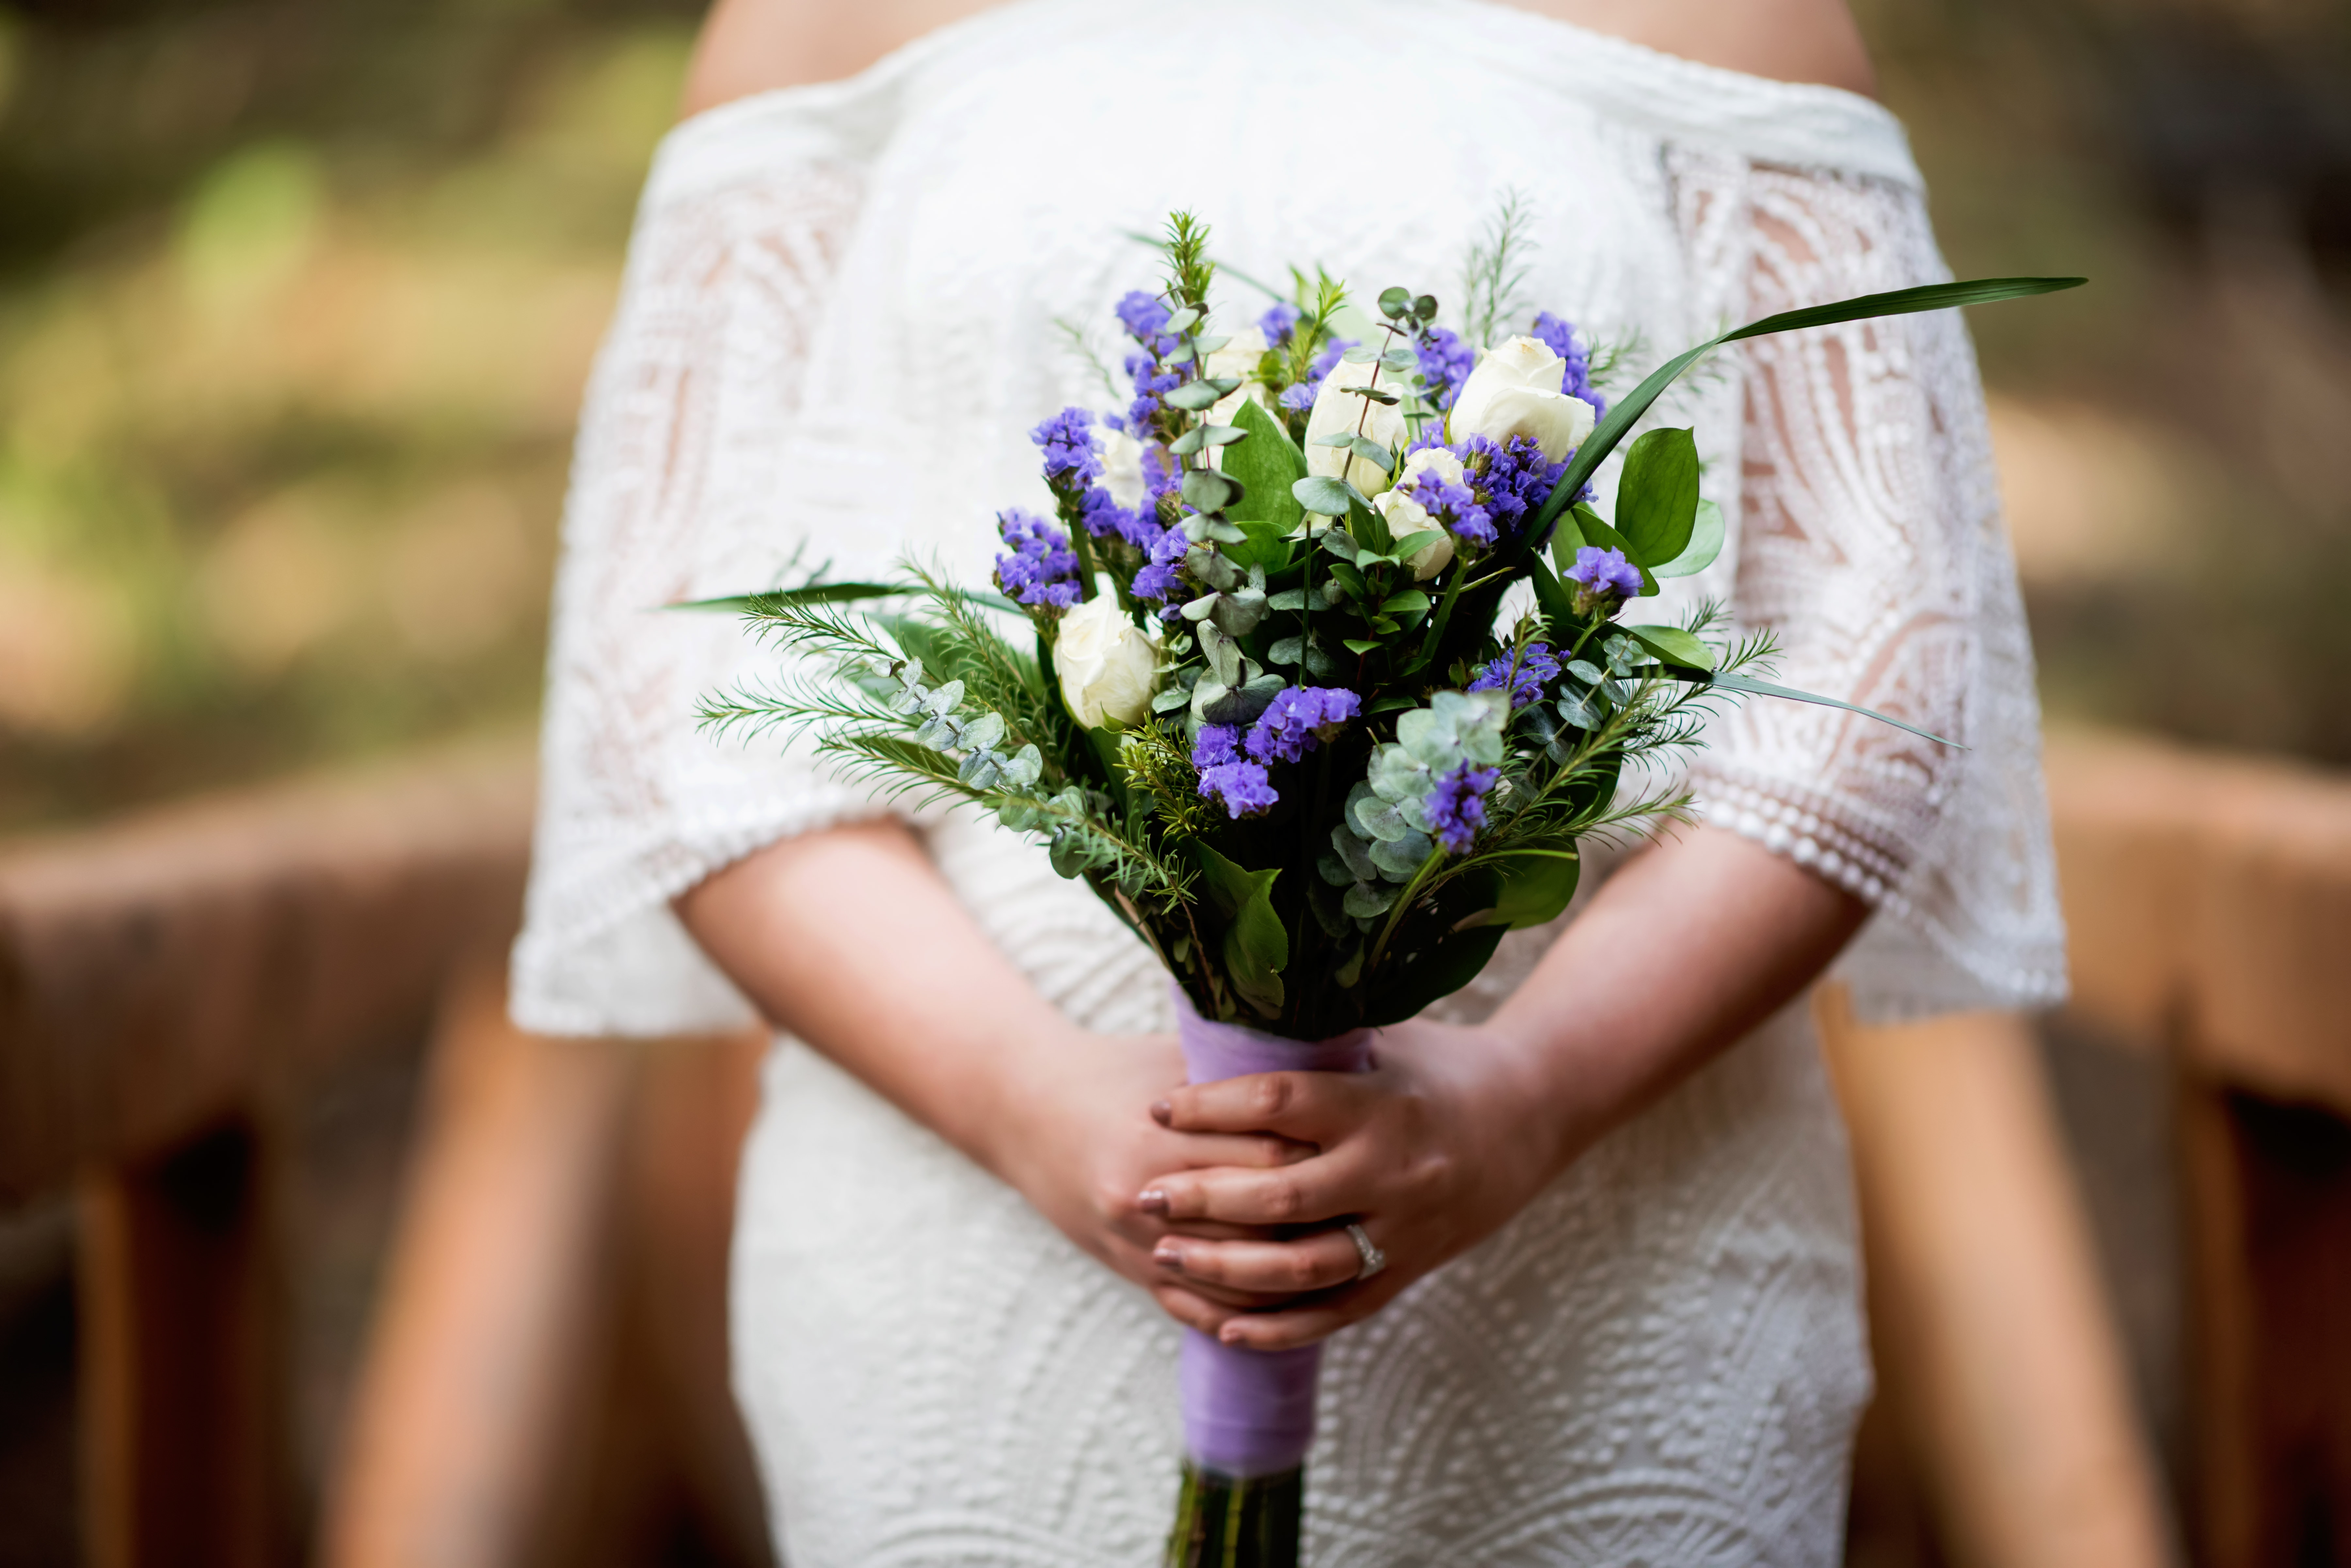
[[[1183,1081],[1173,1037],[1072,1025],[971,922],[891,820],[809,832],[715,872],[677,912],[759,1011],[1020,1192],[1072,1241],[1197,1312],[1152,1265],[1136,1192],[1176,1166],[1279,1166],[1262,1133],[1197,1135],[1147,1107]],[[1239,1234],[1239,1232],[1227,1232]]]

